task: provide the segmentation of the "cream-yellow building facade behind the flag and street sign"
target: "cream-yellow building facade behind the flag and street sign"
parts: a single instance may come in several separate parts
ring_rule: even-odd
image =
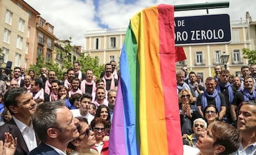
[[[241,75],[241,66],[247,65],[247,60],[243,58],[242,49],[256,49],[255,24],[246,12],[245,20],[231,22],[232,40],[229,44],[208,44],[183,46],[187,59],[176,63],[176,70],[180,70],[186,65],[190,71],[194,71],[202,76],[202,80],[213,77],[214,66],[223,65],[222,55],[229,55],[227,69],[236,76]],[[126,28],[95,30],[85,33],[85,54],[98,57],[100,64],[114,60],[119,62],[122,43]]]

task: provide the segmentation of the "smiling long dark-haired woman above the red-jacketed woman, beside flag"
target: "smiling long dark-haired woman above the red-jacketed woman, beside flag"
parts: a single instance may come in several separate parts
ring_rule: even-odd
[[[109,135],[109,131],[110,131],[110,125],[111,125],[111,120],[110,120],[110,112],[108,109],[108,106],[102,104],[100,106],[98,106],[98,109],[96,110],[96,114],[95,117],[101,117],[101,119],[106,120],[106,135]]]

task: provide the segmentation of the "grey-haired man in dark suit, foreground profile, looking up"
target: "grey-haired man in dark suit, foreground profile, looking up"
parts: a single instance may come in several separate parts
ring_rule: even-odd
[[[40,104],[32,117],[33,127],[41,144],[29,155],[66,154],[69,141],[79,137],[79,120],[61,101]]]

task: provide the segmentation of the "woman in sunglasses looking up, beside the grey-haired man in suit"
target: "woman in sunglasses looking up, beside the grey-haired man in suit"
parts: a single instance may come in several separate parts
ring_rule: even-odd
[[[97,151],[92,149],[95,145],[95,135],[92,130],[90,130],[87,119],[83,117],[77,117],[79,120],[79,126],[77,130],[80,135],[79,138],[72,140],[67,145],[66,153],[68,155],[78,155],[78,154],[98,154]]]

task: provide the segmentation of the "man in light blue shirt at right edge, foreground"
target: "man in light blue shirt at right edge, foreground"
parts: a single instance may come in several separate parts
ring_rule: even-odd
[[[236,155],[256,154],[256,103],[244,102],[237,116],[237,130],[241,132],[242,141]]]

